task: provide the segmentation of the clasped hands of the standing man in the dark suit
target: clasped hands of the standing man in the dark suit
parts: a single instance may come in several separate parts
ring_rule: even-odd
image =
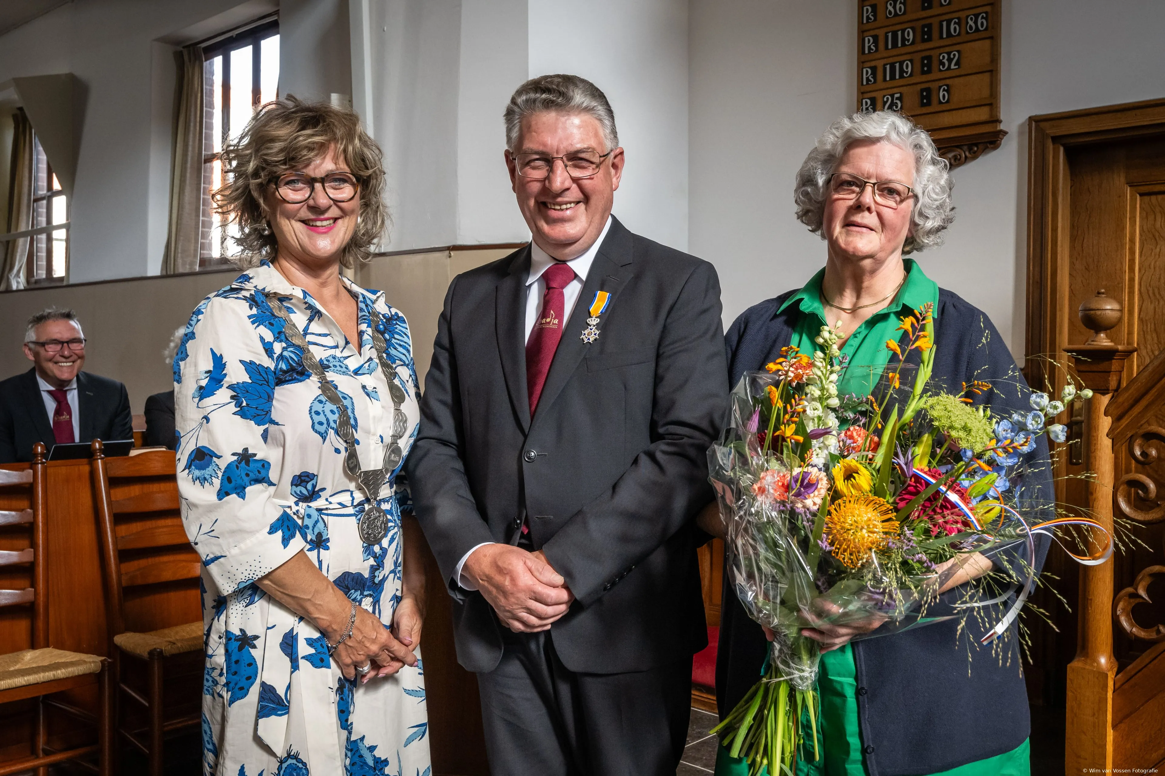
[[[485,544],[469,555],[461,572],[515,633],[549,631],[574,600],[566,579],[550,568],[541,550]]]

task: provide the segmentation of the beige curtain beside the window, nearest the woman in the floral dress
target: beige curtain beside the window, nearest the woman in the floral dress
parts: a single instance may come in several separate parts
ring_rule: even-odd
[[[198,271],[203,218],[203,50],[182,50],[178,73],[178,118],[170,175],[170,226],[162,272]]]

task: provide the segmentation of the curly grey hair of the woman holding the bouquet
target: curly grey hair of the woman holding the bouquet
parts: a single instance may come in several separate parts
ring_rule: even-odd
[[[797,219],[810,232],[820,234],[829,176],[836,170],[846,149],[860,141],[892,143],[915,155],[913,181],[899,181],[910,183],[916,198],[910,214],[912,234],[906,237],[902,252],[941,245],[942,230],[954,222],[951,165],[939,156],[934,141],[925,129],[894,111],[841,116],[817,138],[817,147],[797,171],[793,186]],[[824,234],[821,239],[825,239]]]

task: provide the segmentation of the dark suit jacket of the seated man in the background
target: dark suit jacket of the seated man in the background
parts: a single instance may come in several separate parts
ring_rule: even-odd
[[[129,393],[116,380],[78,372],[77,411],[80,414],[78,442],[134,437]],[[51,450],[56,437],[34,368],[0,383],[0,463],[31,461],[33,446],[37,442],[44,442]]]

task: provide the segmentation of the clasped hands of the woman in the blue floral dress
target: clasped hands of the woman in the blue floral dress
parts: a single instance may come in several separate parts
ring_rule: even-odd
[[[393,614],[390,631],[380,618],[362,606],[356,606],[352,635],[332,653],[332,660],[344,676],[354,679],[358,667],[372,665],[376,670],[368,671],[361,677],[361,683],[366,683],[373,677],[391,676],[405,665],[416,665],[417,656],[414,650],[421,638],[421,618],[411,598],[402,599]],[[340,634],[327,633],[326,636],[329,641],[336,643]]]

